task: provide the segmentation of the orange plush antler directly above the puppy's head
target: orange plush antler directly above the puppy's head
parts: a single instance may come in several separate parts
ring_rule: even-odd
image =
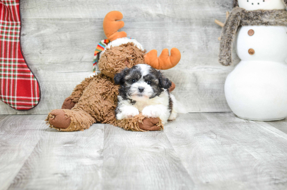
[[[170,50],[164,49],[158,57],[158,52],[153,49],[144,56],[144,61],[155,69],[167,70],[173,68],[180,61],[180,51],[176,48]]]

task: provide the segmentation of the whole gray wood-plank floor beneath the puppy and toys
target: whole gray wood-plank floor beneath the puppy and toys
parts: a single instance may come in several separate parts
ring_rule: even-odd
[[[286,189],[287,122],[189,113],[163,131],[0,115],[0,189]]]

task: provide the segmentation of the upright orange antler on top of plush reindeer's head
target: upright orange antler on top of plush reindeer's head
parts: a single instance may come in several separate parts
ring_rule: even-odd
[[[127,33],[122,31],[118,32],[118,30],[124,27],[124,21],[121,21],[123,18],[123,14],[119,11],[111,11],[107,13],[104,18],[103,28],[106,37],[113,41],[118,38],[127,37]],[[119,20],[119,21],[118,21]]]

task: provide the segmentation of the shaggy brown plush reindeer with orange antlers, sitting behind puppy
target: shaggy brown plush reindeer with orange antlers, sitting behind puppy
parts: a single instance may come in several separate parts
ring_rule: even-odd
[[[86,78],[78,84],[71,96],[66,98],[62,109],[52,110],[46,119],[51,128],[60,131],[83,131],[93,123],[101,122],[133,131],[154,131],[163,129],[159,118],[145,118],[136,115],[133,118],[116,120],[115,108],[119,85],[114,83],[114,76],[124,68],[136,64],[149,64],[156,69],[169,69],[180,61],[180,51],[164,49],[159,57],[157,51],[146,53],[135,39],[127,38],[126,32],[117,32],[124,26],[119,11],[112,11],[105,16],[103,29],[111,41],[101,52],[98,61],[100,73]],[[175,86],[173,85],[174,88]]]

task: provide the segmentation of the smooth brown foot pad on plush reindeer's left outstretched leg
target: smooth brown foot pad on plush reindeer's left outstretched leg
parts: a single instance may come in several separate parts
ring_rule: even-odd
[[[53,110],[51,115],[49,123],[56,128],[66,129],[71,124],[71,118],[67,117],[63,110]]]

